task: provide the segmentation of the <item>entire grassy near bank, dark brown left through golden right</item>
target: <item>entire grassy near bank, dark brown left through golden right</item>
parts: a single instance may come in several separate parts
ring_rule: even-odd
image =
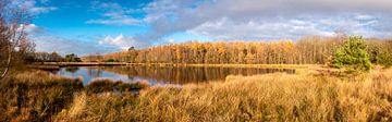
[[[1,83],[1,121],[392,121],[392,70],[229,76],[146,87],[25,73]],[[139,95],[123,93],[144,88]]]

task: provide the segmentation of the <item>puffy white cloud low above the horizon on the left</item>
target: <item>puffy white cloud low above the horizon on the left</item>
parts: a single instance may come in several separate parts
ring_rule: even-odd
[[[68,39],[53,35],[32,36],[30,39],[36,44],[36,51],[56,51],[63,56],[68,53],[76,53],[78,56],[95,54],[96,52],[109,53],[126,50],[130,47],[140,48],[149,45],[122,34],[114,37],[105,36],[102,39],[97,39],[96,41]]]

